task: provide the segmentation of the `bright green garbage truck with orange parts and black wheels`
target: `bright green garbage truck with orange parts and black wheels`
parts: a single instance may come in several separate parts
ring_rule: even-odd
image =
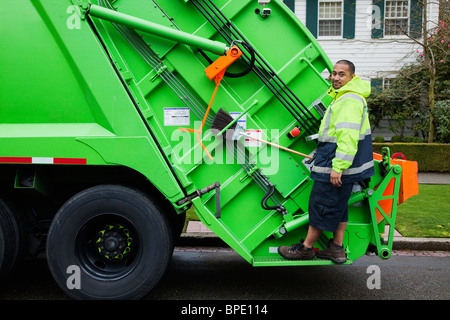
[[[276,250],[306,235],[332,69],[282,1],[15,0],[0,21],[0,277],[44,258],[72,298],[141,298],[190,208],[255,267],[333,264]],[[344,265],[390,257],[417,187],[388,149],[374,165]]]

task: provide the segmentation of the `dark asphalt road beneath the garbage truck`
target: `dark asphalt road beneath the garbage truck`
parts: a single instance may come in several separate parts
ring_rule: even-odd
[[[255,268],[231,249],[176,248],[166,275],[143,300],[449,300],[449,288],[449,252],[364,256],[347,266]],[[68,298],[46,262],[35,261],[17,267],[0,286],[0,300],[17,299]]]

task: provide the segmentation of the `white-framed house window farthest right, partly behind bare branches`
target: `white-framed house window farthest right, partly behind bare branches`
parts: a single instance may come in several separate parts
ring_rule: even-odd
[[[409,1],[386,1],[384,35],[408,33]]]

